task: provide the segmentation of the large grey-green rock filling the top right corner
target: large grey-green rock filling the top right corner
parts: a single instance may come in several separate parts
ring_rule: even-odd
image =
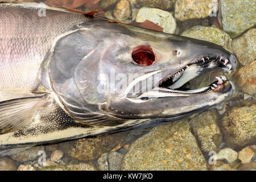
[[[218,22],[233,39],[256,23],[255,0],[220,0]]]

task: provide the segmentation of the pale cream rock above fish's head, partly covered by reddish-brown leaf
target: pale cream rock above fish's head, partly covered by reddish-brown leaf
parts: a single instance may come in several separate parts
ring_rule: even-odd
[[[144,22],[150,20],[163,28],[163,32],[173,34],[176,29],[176,22],[172,14],[155,8],[142,7],[138,10],[135,21]]]

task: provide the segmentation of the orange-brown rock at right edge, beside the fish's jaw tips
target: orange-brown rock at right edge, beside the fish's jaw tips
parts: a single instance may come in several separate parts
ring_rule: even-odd
[[[249,95],[256,94],[256,60],[242,67],[234,74],[234,81],[242,90]]]

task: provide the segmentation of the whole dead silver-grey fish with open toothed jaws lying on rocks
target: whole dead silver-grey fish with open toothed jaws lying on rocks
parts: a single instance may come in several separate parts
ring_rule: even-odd
[[[223,76],[180,89],[205,70],[236,68],[215,44],[42,8],[0,4],[0,148],[156,125],[233,92]]]

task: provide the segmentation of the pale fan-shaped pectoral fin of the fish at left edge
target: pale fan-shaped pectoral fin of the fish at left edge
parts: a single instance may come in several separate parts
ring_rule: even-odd
[[[33,122],[47,96],[18,98],[0,102],[0,134],[9,133]]]

